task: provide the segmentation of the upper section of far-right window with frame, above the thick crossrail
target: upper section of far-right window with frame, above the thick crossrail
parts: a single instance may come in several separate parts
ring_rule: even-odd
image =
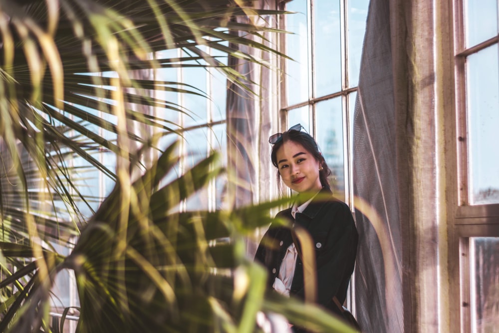
[[[461,204],[499,204],[499,154],[491,144],[499,139],[498,1],[463,0],[462,35],[457,44],[460,88],[465,91],[459,110]],[[463,96],[460,96],[463,98]],[[464,115],[466,113],[466,116]]]

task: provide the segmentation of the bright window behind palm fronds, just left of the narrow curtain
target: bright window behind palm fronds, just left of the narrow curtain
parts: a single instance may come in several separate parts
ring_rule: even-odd
[[[183,52],[185,51],[179,49],[168,50],[159,53],[157,56],[160,59],[182,58],[182,56],[186,56]],[[220,51],[209,49],[208,52]],[[212,55],[217,56],[217,54]],[[227,60],[227,55],[224,56],[222,52],[218,56]],[[199,93],[156,92],[157,98],[178,104],[184,111],[184,113],[168,109],[157,111],[166,112],[166,114],[158,116],[171,121],[172,124],[170,125],[173,129],[183,136],[183,138],[180,138],[175,133],[167,133],[160,142],[160,147],[164,149],[175,140],[181,140],[179,151],[181,161],[177,168],[166,176],[163,184],[167,184],[192,168],[213,150],[222,152],[223,166],[227,166],[226,78],[224,74],[215,68],[196,67],[198,63],[194,60],[189,63],[184,61],[183,63],[193,67],[163,68],[156,72],[156,75],[161,80],[182,82],[185,86],[179,88]],[[206,92],[206,95],[203,95],[204,92]],[[209,184],[208,188],[203,189],[187,200],[182,209],[215,210],[221,208],[225,186],[226,178],[219,177],[215,182]]]

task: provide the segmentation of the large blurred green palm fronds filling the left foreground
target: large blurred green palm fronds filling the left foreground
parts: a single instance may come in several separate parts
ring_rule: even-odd
[[[236,18],[279,13],[243,0],[0,1],[0,332],[62,332],[70,308],[59,326],[50,298],[67,270],[80,300],[77,332],[255,332],[260,310],[346,332],[320,309],[266,296],[264,270],[245,256],[244,237],[282,201],[179,209],[224,172],[217,153],[160,182],[180,159],[176,144],[158,151],[161,135],[179,129],[161,115],[189,110],[152,92],[209,96],[144,72],[215,67],[250,90],[256,82],[207,50],[268,66],[241,46],[284,56],[264,37],[282,31]],[[169,49],[184,55],[157,53]],[[95,157],[102,152],[115,168]],[[92,170],[114,182],[96,211],[101,198],[82,190]],[[64,256],[61,246],[73,250]]]

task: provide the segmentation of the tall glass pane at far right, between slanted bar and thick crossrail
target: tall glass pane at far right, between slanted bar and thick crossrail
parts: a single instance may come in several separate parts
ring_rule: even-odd
[[[467,58],[468,191],[470,204],[499,203],[498,45]]]

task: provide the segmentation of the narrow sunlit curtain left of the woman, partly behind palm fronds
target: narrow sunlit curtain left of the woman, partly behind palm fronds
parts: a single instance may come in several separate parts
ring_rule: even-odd
[[[273,0],[252,1],[259,9],[274,10],[277,2]],[[250,13],[251,14],[251,13]],[[239,16],[238,19],[242,19]],[[250,15],[246,20],[254,20],[256,25],[268,28],[277,27],[276,15],[256,17]],[[244,32],[239,32],[243,34]],[[248,36],[246,36],[248,37]],[[252,36],[258,43],[274,48],[278,43],[277,34],[261,31],[261,38]],[[260,64],[249,63],[245,59],[229,57],[229,66],[245,77],[249,90],[229,82],[227,89],[227,136],[228,158],[231,165],[229,172],[229,196],[233,207],[243,207],[275,198],[275,168],[270,163],[270,145],[268,137],[271,124],[277,124],[277,100],[275,77],[277,57],[273,54],[255,50],[250,45],[243,50]],[[256,98],[258,96],[259,98]],[[268,158],[265,158],[268,156]],[[247,252],[250,257],[256,252],[257,243],[249,241]]]

